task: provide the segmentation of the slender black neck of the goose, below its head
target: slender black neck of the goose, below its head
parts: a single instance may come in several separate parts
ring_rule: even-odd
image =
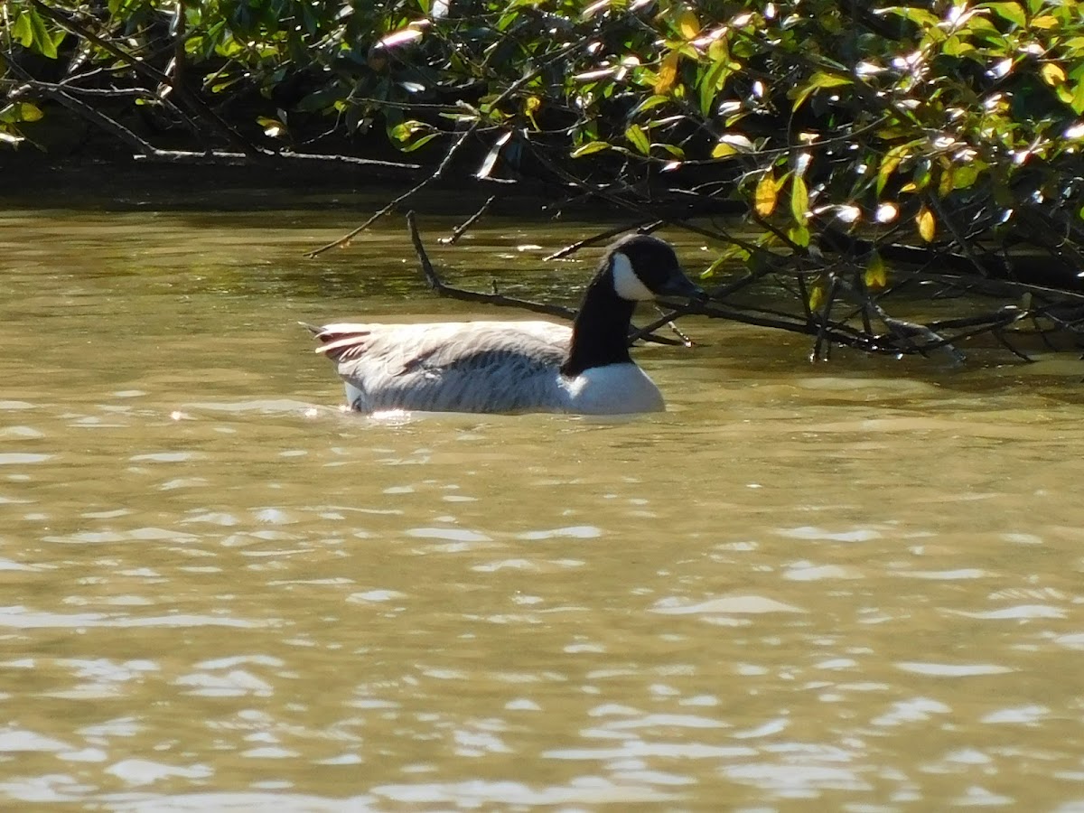
[[[572,323],[572,344],[560,372],[579,375],[591,367],[629,363],[629,322],[636,304],[614,291],[609,263],[598,272]]]

